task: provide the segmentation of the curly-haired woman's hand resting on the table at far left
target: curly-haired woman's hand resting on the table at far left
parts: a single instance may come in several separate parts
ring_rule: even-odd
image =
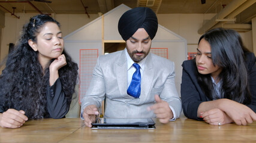
[[[8,109],[0,114],[0,126],[2,128],[20,128],[28,120],[25,116],[25,111],[17,111],[15,109]]]

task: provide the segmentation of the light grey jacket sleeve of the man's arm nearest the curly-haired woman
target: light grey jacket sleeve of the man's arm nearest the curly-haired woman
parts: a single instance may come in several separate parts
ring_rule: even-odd
[[[81,114],[80,117],[83,119],[83,110],[88,105],[96,105],[97,108],[101,107],[101,102],[104,100],[105,97],[105,83],[103,77],[103,71],[100,67],[100,57],[97,60],[97,64],[94,68],[92,73],[92,80],[89,85],[88,90],[86,91],[85,97],[82,99],[81,104]]]

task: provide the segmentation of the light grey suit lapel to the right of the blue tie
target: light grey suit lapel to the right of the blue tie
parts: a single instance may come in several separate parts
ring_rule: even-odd
[[[153,68],[153,64],[152,64],[152,55],[149,52],[149,54],[147,55],[147,60],[146,60],[144,71],[143,71],[143,77],[141,80],[140,96],[143,96],[143,97],[140,97],[141,102],[144,102],[147,100],[149,91],[152,88],[151,86],[152,86],[152,81],[154,78],[154,72],[155,72],[155,69]]]

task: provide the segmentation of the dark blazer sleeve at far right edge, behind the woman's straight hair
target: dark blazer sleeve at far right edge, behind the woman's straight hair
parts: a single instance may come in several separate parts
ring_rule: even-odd
[[[256,66],[255,66],[255,55],[254,53],[249,53],[246,55],[246,63],[248,65],[249,73],[249,88],[251,92],[251,104],[247,106],[251,108],[256,113]]]

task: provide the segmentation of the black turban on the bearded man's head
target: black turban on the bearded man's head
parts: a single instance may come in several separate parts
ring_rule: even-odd
[[[158,29],[155,13],[147,7],[137,7],[126,11],[118,22],[118,31],[124,41],[131,38],[139,29],[144,28],[152,40]]]

